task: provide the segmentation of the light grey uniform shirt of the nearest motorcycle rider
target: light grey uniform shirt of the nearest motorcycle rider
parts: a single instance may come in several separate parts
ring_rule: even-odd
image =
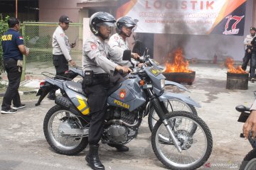
[[[92,70],[94,74],[113,74],[117,64],[110,61],[108,57],[113,55],[112,48],[105,41],[92,35],[85,40],[83,47],[83,68]]]

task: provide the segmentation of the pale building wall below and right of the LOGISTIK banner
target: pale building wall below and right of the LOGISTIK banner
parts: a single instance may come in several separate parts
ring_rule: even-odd
[[[242,61],[245,54],[243,40],[250,33],[250,26],[256,25],[255,6],[255,0],[247,0],[244,36],[157,34],[154,36],[154,58],[164,63],[169,52],[176,47],[183,47],[183,54],[187,59],[213,61],[217,56],[218,62],[226,57]]]

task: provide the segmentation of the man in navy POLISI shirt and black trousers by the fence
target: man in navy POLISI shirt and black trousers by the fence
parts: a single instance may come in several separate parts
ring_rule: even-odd
[[[4,68],[7,72],[9,86],[4,94],[3,103],[1,105],[1,113],[16,113],[17,109],[24,108],[26,105],[21,103],[18,94],[18,87],[21,81],[23,55],[28,55],[28,50],[24,46],[23,37],[20,30],[20,22],[17,18],[9,18],[9,30],[1,37],[1,45],[3,47]],[[14,106],[11,108],[11,101]]]

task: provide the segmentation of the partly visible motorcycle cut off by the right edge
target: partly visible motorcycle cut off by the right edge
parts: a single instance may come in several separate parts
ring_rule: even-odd
[[[256,98],[256,91],[254,91]],[[250,115],[250,108],[246,108],[245,106],[239,105],[235,107],[235,110],[240,112],[240,116],[238,118],[238,122],[245,123],[247,118]],[[243,133],[240,134],[240,137],[245,138]],[[256,140],[252,138],[252,132],[249,133],[247,139],[252,145],[252,150],[248,152],[245,158],[242,160],[242,164],[240,166],[240,170],[255,170],[256,169]]]

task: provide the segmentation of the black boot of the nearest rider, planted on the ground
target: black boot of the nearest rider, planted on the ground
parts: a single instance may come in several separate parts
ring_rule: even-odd
[[[100,162],[99,154],[98,154],[99,145],[90,145],[90,150],[85,160],[89,164],[89,166],[94,170],[105,170],[104,165]]]

